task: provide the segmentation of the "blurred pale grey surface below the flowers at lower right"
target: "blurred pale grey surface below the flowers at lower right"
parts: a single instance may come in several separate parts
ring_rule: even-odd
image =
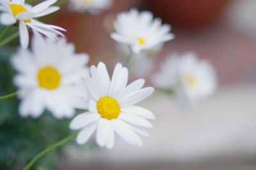
[[[61,169],[256,169],[256,84],[226,86],[189,113],[155,93],[141,105],[154,112],[138,148],[116,136],[113,150],[67,148]]]

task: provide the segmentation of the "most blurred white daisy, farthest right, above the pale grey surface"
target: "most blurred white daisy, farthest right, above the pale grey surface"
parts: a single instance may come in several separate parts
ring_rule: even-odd
[[[168,56],[161,71],[152,76],[154,84],[163,89],[173,89],[190,103],[208,97],[216,91],[216,72],[206,60],[199,60],[193,52],[183,56]]]

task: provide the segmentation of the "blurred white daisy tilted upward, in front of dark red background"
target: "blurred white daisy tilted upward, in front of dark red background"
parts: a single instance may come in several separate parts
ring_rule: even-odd
[[[139,13],[138,10],[132,9],[120,13],[114,27],[116,32],[111,33],[111,38],[129,45],[136,54],[174,38],[173,33],[169,33],[171,26],[162,25],[161,19],[153,19],[153,14],[147,11]]]

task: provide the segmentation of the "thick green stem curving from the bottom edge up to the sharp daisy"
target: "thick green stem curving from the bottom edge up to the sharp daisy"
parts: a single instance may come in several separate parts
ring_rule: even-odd
[[[62,144],[67,143],[68,141],[74,139],[74,137],[76,137],[78,134],[78,132],[76,132],[75,134],[72,134],[68,137],[66,137],[65,139],[62,139],[61,141],[58,141],[58,143],[54,143],[51,146],[49,146],[48,148],[46,148],[45,150],[41,151],[40,153],[38,153],[30,162],[29,164],[24,167],[23,170],[29,170],[29,168],[31,166],[33,166],[33,164],[35,164],[36,160],[38,160],[38,158],[42,157],[43,155],[45,155],[45,153],[48,153],[49,151],[54,150],[55,148],[58,148],[59,146],[61,146]]]

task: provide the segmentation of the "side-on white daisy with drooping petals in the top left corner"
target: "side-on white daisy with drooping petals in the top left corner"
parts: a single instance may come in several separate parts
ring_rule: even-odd
[[[0,15],[0,22],[3,25],[19,25],[20,45],[23,49],[28,48],[29,43],[27,26],[31,27],[36,36],[41,33],[52,40],[57,40],[58,35],[64,36],[57,30],[66,31],[65,29],[33,19],[59,10],[59,6],[51,6],[56,1],[48,0],[32,7],[30,4],[24,3],[24,0],[0,0],[0,10],[3,12]]]

